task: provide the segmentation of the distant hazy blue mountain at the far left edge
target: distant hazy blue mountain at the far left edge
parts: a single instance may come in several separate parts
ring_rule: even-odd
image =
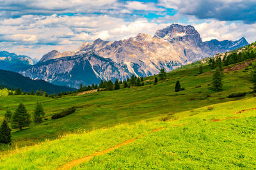
[[[17,55],[6,51],[0,52],[0,69],[17,71],[33,64],[35,64],[35,61],[26,55]]]

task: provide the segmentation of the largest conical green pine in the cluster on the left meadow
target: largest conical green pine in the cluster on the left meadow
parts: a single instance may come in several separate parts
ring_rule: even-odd
[[[13,114],[12,127],[19,128],[20,130],[22,130],[22,127],[28,126],[30,122],[30,115],[28,114],[25,105],[20,103],[19,107]]]

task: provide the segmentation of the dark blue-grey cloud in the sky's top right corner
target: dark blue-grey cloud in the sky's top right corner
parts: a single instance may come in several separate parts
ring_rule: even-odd
[[[160,0],[159,5],[174,8],[184,15],[195,15],[200,19],[241,20],[246,24],[256,22],[255,0]]]

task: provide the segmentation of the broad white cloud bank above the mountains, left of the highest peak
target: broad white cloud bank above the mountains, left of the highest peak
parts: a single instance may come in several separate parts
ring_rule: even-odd
[[[74,16],[37,16],[24,15],[20,18],[5,18],[0,20],[0,48],[20,50],[15,46],[29,46],[33,53],[31,57],[41,57],[49,49],[76,50],[84,41],[94,41],[97,38],[115,41],[136,36],[140,32],[154,34],[157,29],[167,24],[156,24],[148,20],[126,21],[122,18],[108,15],[74,15]],[[42,46],[47,46],[41,53]],[[66,46],[60,48],[60,46]],[[0,50],[1,50],[0,49]],[[52,50],[52,49],[51,49]],[[18,51],[19,52],[19,51]],[[20,51],[24,52],[24,50]],[[26,53],[31,53],[26,50]]]

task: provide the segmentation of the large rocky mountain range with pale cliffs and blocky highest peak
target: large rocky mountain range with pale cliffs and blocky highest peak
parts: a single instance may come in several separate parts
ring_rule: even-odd
[[[154,36],[138,34],[120,41],[83,43],[77,50],[45,54],[35,65],[18,72],[33,79],[42,79],[56,85],[78,87],[99,83],[100,80],[125,80],[136,76],[151,76],[248,45],[246,39],[237,41],[202,41],[191,25],[172,24],[156,31]]]

